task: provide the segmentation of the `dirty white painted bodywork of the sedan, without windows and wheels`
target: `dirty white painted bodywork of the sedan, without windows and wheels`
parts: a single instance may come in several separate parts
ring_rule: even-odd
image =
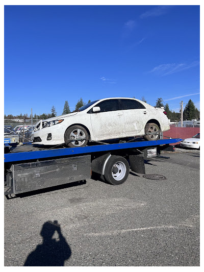
[[[152,107],[135,98],[126,98],[140,102],[145,109],[129,109],[109,112],[88,113],[98,103],[111,100],[122,99],[124,97],[105,98],[97,101],[86,110],[61,115],[40,121],[39,130],[33,133],[34,137],[40,137],[38,144],[62,144],[64,134],[68,127],[74,124],[85,126],[90,132],[90,138],[94,141],[124,138],[144,135],[144,128],[148,120],[154,118],[159,121],[161,131],[169,130],[169,120],[163,113],[164,109]],[[61,123],[52,127],[42,128],[42,121],[52,121],[63,119]],[[39,122],[38,122],[39,123]],[[52,133],[52,140],[47,140],[48,133]]]

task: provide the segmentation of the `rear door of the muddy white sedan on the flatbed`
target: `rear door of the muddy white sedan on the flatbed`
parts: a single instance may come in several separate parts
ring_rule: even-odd
[[[125,135],[139,135],[149,116],[148,110],[140,102],[131,99],[120,99],[124,115]]]

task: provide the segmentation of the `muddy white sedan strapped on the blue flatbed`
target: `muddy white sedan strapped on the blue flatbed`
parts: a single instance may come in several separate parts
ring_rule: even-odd
[[[88,141],[143,136],[157,140],[169,130],[164,108],[155,108],[135,98],[104,98],[69,114],[40,120],[32,135],[35,144],[65,143],[85,146]]]

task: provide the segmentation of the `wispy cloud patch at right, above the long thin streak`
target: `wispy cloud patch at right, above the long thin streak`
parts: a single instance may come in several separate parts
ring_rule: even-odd
[[[150,70],[150,73],[156,73],[159,76],[167,76],[171,73],[180,72],[184,70],[188,70],[192,67],[195,67],[199,65],[199,61],[194,61],[192,63],[166,63],[166,64],[160,64],[156,67],[154,67],[152,70]]]

